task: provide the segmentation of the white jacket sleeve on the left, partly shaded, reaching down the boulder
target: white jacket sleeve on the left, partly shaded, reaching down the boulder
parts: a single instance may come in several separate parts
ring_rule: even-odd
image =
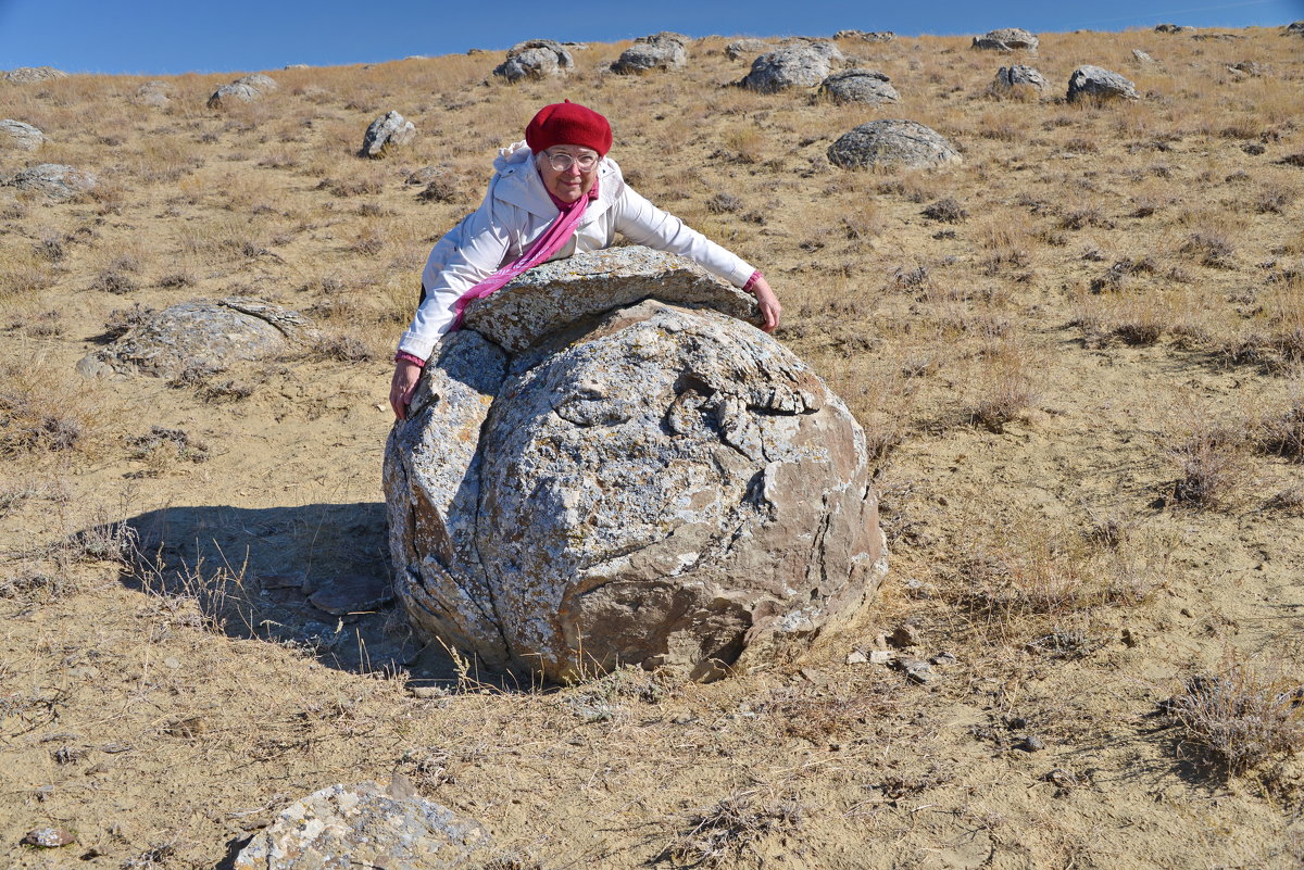
[[[399,339],[399,350],[428,359],[439,337],[452,327],[454,303],[502,264],[511,241],[515,207],[494,199],[493,190],[476,211],[449,231],[421,272],[425,302]]]

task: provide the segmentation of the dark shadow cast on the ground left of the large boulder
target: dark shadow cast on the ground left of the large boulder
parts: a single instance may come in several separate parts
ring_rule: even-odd
[[[123,526],[133,551],[123,583],[193,600],[213,630],[295,647],[340,671],[459,685],[458,663],[415,638],[394,603],[381,501],[170,507]]]

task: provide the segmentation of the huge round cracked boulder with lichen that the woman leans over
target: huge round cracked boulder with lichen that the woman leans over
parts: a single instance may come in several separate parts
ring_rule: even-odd
[[[496,332],[515,319],[497,309],[553,298],[541,271],[563,297],[601,293],[569,323]],[[622,664],[707,680],[874,594],[865,434],[806,363],[716,309],[755,316],[730,288],[674,277],[692,271],[636,247],[549,263],[437,345],[385,457],[395,593],[424,638],[556,681]]]

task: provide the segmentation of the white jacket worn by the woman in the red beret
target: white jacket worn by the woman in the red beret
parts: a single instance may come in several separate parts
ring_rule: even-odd
[[[493,165],[497,173],[484,203],[430,251],[421,274],[425,302],[399,340],[403,353],[428,359],[452,326],[452,305],[462,294],[520,257],[557,218],[557,206],[524,142],[502,148]],[[597,177],[597,199],[585,208],[575,236],[552,259],[609,247],[619,232],[636,245],[687,257],[734,287],[751,277],[755,270],[742,258],[635,193],[610,158],[602,158]]]

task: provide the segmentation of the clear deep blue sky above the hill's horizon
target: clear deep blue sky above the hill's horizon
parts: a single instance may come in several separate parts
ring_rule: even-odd
[[[531,38],[610,42],[657,30],[690,36],[820,35],[853,27],[917,35],[994,27],[1125,30],[1163,21],[1240,27],[1301,18],[1304,0],[0,0],[0,69],[50,65],[145,74],[279,69],[506,48]]]

